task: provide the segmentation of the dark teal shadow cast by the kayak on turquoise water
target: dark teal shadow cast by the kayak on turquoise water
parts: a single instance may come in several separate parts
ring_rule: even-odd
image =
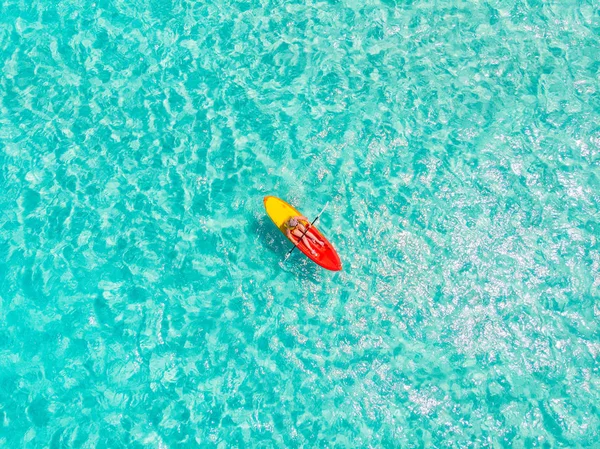
[[[279,259],[285,271],[299,274],[315,282],[320,281],[321,268],[296,249],[284,262],[286,254],[292,249],[292,243],[279,231],[270,220],[257,220],[251,223],[252,230],[258,237],[257,245],[268,248]]]

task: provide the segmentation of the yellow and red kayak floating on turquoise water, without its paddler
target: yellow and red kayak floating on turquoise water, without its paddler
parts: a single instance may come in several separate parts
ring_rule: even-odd
[[[265,203],[267,215],[269,216],[269,218],[271,218],[271,220],[273,220],[275,226],[277,226],[279,230],[283,232],[284,235],[284,223],[286,223],[292,217],[302,215],[288,203],[274,196],[265,196],[263,202]],[[321,232],[319,232],[319,230],[315,226],[311,226],[310,229],[313,232],[313,234],[319,238],[319,240],[322,240],[325,243],[325,245],[321,246],[316,243],[312,245],[312,247],[317,252],[316,256],[313,256],[311,254],[311,252],[308,250],[308,248],[303,242],[298,243],[298,249],[302,251],[306,257],[308,257],[317,265],[327,270],[340,271],[342,269],[342,262],[340,261],[340,256],[338,256],[337,252],[333,248],[333,245],[329,243],[329,241],[323,236],[323,234],[321,234]],[[292,243],[296,242],[292,241]]]

